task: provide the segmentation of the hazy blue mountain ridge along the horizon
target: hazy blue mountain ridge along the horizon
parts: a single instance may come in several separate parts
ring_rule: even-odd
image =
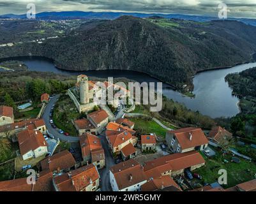
[[[38,20],[67,20],[77,18],[97,18],[97,19],[116,19],[123,15],[132,15],[133,17],[147,18],[151,16],[158,16],[163,18],[177,18],[183,20],[193,20],[197,22],[207,22],[211,20],[219,20],[217,17],[207,17],[202,15],[182,15],[182,14],[162,14],[162,13],[124,13],[124,12],[92,12],[92,11],[60,11],[60,12],[42,12],[37,13],[36,18]],[[15,15],[6,14],[1,15],[0,18],[26,18],[26,14]],[[256,26],[256,19],[250,18],[229,18],[228,20],[238,20],[245,24]]]

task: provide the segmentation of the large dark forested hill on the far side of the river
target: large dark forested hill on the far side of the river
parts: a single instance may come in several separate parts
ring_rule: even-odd
[[[241,22],[123,16],[85,22],[42,44],[0,48],[0,57],[42,55],[72,70],[131,69],[192,88],[197,71],[251,61],[255,51],[256,27]]]

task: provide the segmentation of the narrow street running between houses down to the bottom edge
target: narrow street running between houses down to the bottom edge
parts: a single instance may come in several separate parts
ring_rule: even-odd
[[[110,186],[109,182],[109,170],[112,166],[115,165],[114,158],[112,157],[112,153],[110,152],[109,145],[107,143],[107,139],[105,136],[105,131],[101,134],[98,135],[98,137],[102,141],[102,147],[105,152],[105,168],[102,170],[99,170],[100,173],[100,186],[102,191],[112,191],[112,188]]]

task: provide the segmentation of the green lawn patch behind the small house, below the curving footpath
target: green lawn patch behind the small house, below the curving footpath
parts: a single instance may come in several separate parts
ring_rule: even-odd
[[[154,120],[141,119],[141,118],[129,118],[132,122],[135,122],[134,129],[139,130],[142,134],[156,133],[157,136],[165,138],[166,129],[158,125]]]

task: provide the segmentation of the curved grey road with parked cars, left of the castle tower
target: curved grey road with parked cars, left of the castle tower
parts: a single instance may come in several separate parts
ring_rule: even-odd
[[[57,99],[59,98],[59,95],[54,96],[53,98],[50,99],[49,103],[45,107],[45,111],[43,112],[43,120],[45,120],[45,126],[47,128],[47,131],[50,136],[53,136],[54,139],[59,138],[59,140],[64,141],[64,142],[78,142],[79,137],[75,136],[65,136],[61,133],[58,132],[59,129],[54,129],[50,125],[50,108],[56,103]]]

